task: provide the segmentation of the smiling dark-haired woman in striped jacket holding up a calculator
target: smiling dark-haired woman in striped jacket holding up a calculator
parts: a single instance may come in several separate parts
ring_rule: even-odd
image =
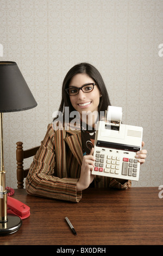
[[[26,179],[29,194],[79,202],[82,191],[89,186],[120,189],[131,186],[130,180],[91,174],[95,164],[96,121],[108,105],[105,84],[94,66],[81,63],[68,71],[62,84],[61,115],[48,125],[46,136],[30,166]],[[72,113],[78,115],[75,122]],[[141,150],[136,154],[141,163],[145,162],[146,153],[146,150]]]

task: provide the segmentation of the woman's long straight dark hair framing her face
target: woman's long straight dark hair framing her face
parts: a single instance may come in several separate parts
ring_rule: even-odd
[[[91,77],[92,80],[95,81],[95,83],[97,83],[98,89],[100,90],[101,95],[102,95],[102,97],[100,97],[100,100],[99,100],[98,113],[100,113],[101,111],[105,111],[108,108],[108,106],[111,104],[110,104],[109,95],[106,90],[106,87],[105,87],[105,84],[104,84],[101,74],[91,64],[80,63],[80,64],[73,66],[67,72],[67,74],[64,78],[64,81],[62,83],[62,100],[60,103],[59,112],[61,112],[63,114],[63,117],[65,118],[65,107],[69,107],[69,114],[72,111],[75,111],[75,109],[73,108],[73,106],[71,104],[70,96],[68,96],[68,94],[65,92],[65,89],[68,88],[71,78],[77,74],[86,74],[89,77]]]

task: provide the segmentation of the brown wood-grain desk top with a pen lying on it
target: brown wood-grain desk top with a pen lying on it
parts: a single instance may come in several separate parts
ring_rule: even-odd
[[[163,245],[159,192],[158,187],[89,188],[79,203],[71,203],[15,190],[14,197],[30,206],[31,214],[16,233],[0,236],[0,245]]]

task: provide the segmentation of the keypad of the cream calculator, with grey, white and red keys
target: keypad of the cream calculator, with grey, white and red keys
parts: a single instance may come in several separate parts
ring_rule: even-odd
[[[137,159],[120,157],[112,154],[101,154],[96,151],[96,160],[94,170],[97,172],[121,174],[136,177],[137,175]],[[122,162],[122,167],[121,167]],[[121,167],[121,168],[120,168]]]

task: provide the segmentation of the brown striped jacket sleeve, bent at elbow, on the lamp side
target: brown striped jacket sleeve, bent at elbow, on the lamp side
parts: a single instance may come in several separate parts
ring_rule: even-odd
[[[26,178],[26,191],[34,196],[79,202],[82,192],[77,192],[78,179],[53,176],[55,167],[54,130],[48,125],[46,136],[34,156]]]

